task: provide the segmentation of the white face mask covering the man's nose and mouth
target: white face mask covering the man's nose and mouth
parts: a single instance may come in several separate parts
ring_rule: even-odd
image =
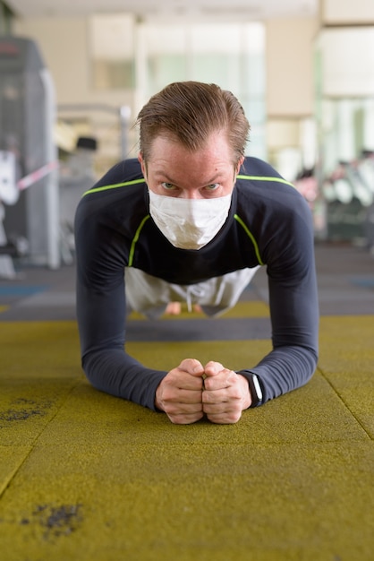
[[[211,199],[182,199],[149,190],[149,212],[174,247],[200,249],[216,236],[230,210],[231,194]]]

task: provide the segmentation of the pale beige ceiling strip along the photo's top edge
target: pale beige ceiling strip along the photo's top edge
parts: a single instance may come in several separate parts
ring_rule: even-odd
[[[307,17],[319,0],[6,0],[20,17],[84,16],[128,12],[142,19],[201,18],[262,21],[277,17]]]

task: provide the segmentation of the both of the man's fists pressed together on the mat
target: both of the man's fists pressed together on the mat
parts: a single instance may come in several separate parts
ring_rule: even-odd
[[[251,405],[247,379],[219,362],[203,367],[195,358],[184,359],[167,373],[156,391],[156,407],[175,424],[186,425],[204,414],[212,423],[236,423]]]

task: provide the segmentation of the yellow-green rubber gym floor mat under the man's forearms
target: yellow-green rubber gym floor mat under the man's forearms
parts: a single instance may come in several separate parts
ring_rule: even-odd
[[[74,322],[0,323],[0,558],[371,561],[374,317],[322,317],[320,335],[301,389],[233,426],[174,426],[88,384]],[[128,350],[239,368],[269,341]]]

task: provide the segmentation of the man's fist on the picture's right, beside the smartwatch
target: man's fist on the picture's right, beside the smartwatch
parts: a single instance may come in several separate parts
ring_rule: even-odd
[[[204,367],[204,374],[204,413],[212,423],[236,423],[242,417],[242,410],[251,405],[248,380],[213,360]]]

